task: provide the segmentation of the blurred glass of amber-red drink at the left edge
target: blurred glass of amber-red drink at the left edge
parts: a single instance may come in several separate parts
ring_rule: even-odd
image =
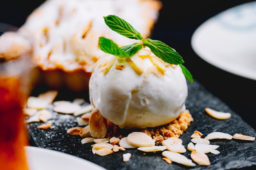
[[[11,41],[15,43],[16,39],[13,38]],[[17,46],[13,46],[11,49],[4,49],[7,51],[1,53],[1,48],[2,46],[0,46],[0,169],[28,170],[24,149],[28,139],[22,108],[25,106],[33,82],[31,51],[22,51],[19,54],[19,51],[16,51]],[[13,51],[10,51],[12,48]],[[26,48],[29,49],[28,46]]]

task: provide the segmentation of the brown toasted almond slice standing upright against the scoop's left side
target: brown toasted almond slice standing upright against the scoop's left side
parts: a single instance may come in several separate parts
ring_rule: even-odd
[[[108,121],[107,119],[101,116],[101,113],[97,108],[94,108],[92,110],[92,113],[89,119],[89,126],[90,126],[90,134],[95,139],[101,139],[106,136]]]

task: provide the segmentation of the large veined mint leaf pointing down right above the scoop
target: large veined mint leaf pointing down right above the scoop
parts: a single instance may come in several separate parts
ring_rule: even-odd
[[[167,62],[169,64],[183,64],[184,61],[182,57],[174,51],[171,47],[164,44],[161,41],[158,40],[151,40],[147,38],[144,40],[144,45],[148,46],[152,53],[154,53],[157,57],[162,59],[164,62]]]

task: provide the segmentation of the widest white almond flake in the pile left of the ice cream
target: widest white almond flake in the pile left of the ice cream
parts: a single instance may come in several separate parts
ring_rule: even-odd
[[[81,106],[78,104],[66,103],[66,104],[59,104],[54,106],[53,110],[58,113],[63,114],[72,114],[75,113],[77,110],[81,109]]]

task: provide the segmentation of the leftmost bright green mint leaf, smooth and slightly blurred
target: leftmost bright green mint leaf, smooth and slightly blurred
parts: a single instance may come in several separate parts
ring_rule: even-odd
[[[115,42],[105,37],[99,38],[99,48],[108,54],[119,57],[129,57],[129,55],[126,54],[126,52],[124,52],[119,46],[117,46]]]

